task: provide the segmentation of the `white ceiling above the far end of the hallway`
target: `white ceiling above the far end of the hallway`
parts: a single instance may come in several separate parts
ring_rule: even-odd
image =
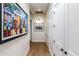
[[[49,7],[49,3],[29,3],[29,5],[32,13],[35,13],[38,10],[46,13]]]

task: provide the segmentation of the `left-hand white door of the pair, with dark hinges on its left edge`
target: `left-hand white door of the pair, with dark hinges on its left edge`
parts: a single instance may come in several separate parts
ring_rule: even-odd
[[[64,4],[57,4],[54,8],[54,54],[62,56],[65,43],[65,10]]]

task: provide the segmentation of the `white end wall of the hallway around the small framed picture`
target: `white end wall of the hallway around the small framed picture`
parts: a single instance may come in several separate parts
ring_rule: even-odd
[[[45,36],[45,22],[44,22],[44,31],[43,32],[35,32],[34,31],[34,23],[40,17],[42,21],[45,21],[45,16],[44,14],[33,14],[32,15],[32,41],[33,42],[45,42],[46,41],[46,36]]]

